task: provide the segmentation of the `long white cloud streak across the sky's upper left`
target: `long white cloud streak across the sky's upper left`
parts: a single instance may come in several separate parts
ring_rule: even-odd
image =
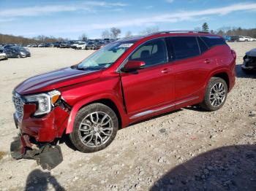
[[[21,7],[13,9],[1,9],[0,17],[22,17],[22,16],[37,16],[37,15],[49,15],[56,12],[74,12],[78,10],[84,10],[93,12],[95,8],[99,7],[125,7],[127,4],[116,2],[108,3],[105,1],[86,1],[75,5],[46,5],[35,7]]]

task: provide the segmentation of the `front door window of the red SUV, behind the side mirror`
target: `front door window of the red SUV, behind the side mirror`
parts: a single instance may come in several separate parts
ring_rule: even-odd
[[[164,39],[153,39],[140,45],[130,57],[132,61],[144,61],[146,67],[167,63],[167,52]]]

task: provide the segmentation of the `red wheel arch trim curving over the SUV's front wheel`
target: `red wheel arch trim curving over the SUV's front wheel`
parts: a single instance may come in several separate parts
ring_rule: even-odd
[[[127,117],[127,114],[124,111],[124,106],[123,106],[122,101],[119,101],[118,98],[116,98],[114,95],[112,95],[110,93],[104,93],[101,95],[96,95],[96,96],[94,95],[89,98],[80,100],[72,107],[72,110],[69,114],[69,119],[67,121],[67,129],[66,129],[67,134],[72,133],[74,122],[75,122],[75,116],[78,113],[78,111],[83,106],[86,106],[92,102],[97,102],[97,100],[100,100],[100,99],[109,99],[116,105],[118,112],[120,114],[120,117],[121,117],[121,127],[122,128],[124,128],[125,126],[127,126],[129,124],[129,119]]]

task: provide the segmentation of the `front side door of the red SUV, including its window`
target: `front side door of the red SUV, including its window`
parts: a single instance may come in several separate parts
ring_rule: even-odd
[[[140,45],[128,60],[144,61],[145,69],[121,73],[124,100],[131,118],[153,112],[151,109],[174,101],[174,76],[167,61],[165,39],[152,39]],[[148,111],[148,112],[145,112]]]

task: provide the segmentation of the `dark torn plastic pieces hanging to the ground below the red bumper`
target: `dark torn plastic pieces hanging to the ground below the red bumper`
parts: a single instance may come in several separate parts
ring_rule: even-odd
[[[62,160],[61,147],[51,144],[39,144],[38,146],[29,141],[29,136],[19,135],[10,146],[11,155],[15,159],[37,160],[42,169],[51,170],[59,165]]]

